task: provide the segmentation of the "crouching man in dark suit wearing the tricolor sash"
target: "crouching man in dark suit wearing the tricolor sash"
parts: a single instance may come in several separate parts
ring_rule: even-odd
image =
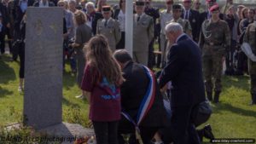
[[[113,54],[114,58],[119,62],[119,65],[124,72],[125,82],[121,85],[121,107],[122,111],[126,112],[137,123],[137,115],[148,90],[153,90],[153,105],[149,108],[142,123],[139,124],[141,136],[144,144],[151,143],[155,132],[160,127],[165,126],[166,110],[160,95],[160,89],[156,84],[153,75],[148,76],[145,66],[132,61],[131,56],[125,49],[119,49]],[[148,89],[148,84],[155,83],[153,89]],[[124,144],[125,141],[121,134],[131,134],[129,143],[137,144],[135,139],[135,125],[125,117],[119,121],[119,144]]]

